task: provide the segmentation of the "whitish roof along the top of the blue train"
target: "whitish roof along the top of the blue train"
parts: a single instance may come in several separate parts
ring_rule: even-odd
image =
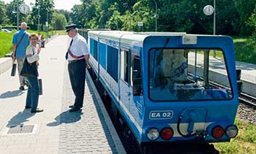
[[[116,42],[121,42],[128,45],[143,46],[143,41],[148,36],[213,36],[213,35],[199,35],[187,34],[186,32],[134,32],[134,31],[89,31],[89,36],[94,39],[108,39]]]

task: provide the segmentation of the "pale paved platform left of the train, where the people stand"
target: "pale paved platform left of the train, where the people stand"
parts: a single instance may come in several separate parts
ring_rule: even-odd
[[[41,50],[44,112],[24,109],[27,91],[18,90],[18,74],[0,75],[0,154],[125,153],[88,73],[83,110],[68,111],[75,99],[64,58],[68,45],[68,36],[58,36]]]

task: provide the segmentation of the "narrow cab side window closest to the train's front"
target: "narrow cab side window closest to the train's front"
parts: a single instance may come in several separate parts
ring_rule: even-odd
[[[131,65],[132,65],[132,67],[131,67],[132,93],[133,93],[133,96],[140,96],[143,93],[140,51],[132,50]]]

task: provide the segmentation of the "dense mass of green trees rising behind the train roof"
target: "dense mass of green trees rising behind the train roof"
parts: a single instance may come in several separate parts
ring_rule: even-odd
[[[158,31],[186,31],[192,34],[213,34],[213,15],[203,14],[203,7],[213,0],[156,0]],[[82,0],[72,8],[72,21],[86,28],[111,28],[154,31],[154,0]],[[217,34],[250,34],[246,21],[252,15],[256,0],[216,0]]]

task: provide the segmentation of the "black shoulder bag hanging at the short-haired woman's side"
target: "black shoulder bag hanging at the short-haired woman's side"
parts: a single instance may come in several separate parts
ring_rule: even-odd
[[[29,63],[25,58],[20,75],[23,77],[38,77],[37,61],[34,61],[34,63]]]

